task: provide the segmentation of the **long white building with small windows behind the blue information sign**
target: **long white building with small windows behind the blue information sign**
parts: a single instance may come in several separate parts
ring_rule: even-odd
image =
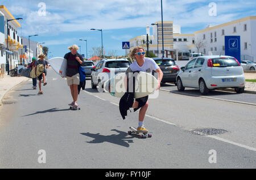
[[[195,41],[202,41],[200,52],[206,55],[225,54],[225,36],[240,36],[241,59],[256,60],[256,16],[209,26],[195,32]]]

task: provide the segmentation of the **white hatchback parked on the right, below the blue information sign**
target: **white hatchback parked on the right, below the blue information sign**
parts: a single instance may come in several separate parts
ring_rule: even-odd
[[[192,59],[177,74],[177,89],[199,88],[203,95],[216,88],[234,88],[237,93],[245,89],[243,68],[236,58],[226,55],[201,56]]]

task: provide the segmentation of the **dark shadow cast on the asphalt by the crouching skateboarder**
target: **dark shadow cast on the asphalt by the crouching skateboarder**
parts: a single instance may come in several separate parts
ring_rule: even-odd
[[[133,143],[133,136],[127,137],[127,132],[123,132],[123,131],[118,131],[118,130],[111,130],[111,131],[115,131],[118,132],[119,134],[112,134],[112,135],[108,135],[108,136],[104,136],[104,135],[100,135],[100,133],[97,134],[91,134],[90,132],[86,132],[86,133],[81,133],[81,135],[85,135],[88,136],[90,138],[94,138],[93,140],[91,140],[90,142],[87,143],[104,143],[104,142],[109,142],[109,143],[113,143],[113,144],[117,144],[117,145],[122,145],[124,147],[129,147],[129,143]]]

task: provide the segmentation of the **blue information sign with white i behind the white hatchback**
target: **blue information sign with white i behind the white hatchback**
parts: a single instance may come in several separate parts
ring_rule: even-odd
[[[240,36],[225,36],[225,55],[230,55],[241,63]]]

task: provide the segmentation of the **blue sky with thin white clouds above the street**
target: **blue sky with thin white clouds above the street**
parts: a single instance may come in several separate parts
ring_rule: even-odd
[[[68,46],[77,44],[88,58],[92,48],[101,47],[102,29],[105,55],[113,50],[125,55],[122,41],[146,35],[146,25],[161,20],[160,0],[4,0],[0,2],[18,20],[18,35],[45,42],[52,57],[64,57]],[[216,11],[213,11],[216,10]],[[163,0],[163,20],[181,25],[181,33],[194,33],[209,24],[256,16],[255,0]],[[150,25],[152,34],[152,26]]]

